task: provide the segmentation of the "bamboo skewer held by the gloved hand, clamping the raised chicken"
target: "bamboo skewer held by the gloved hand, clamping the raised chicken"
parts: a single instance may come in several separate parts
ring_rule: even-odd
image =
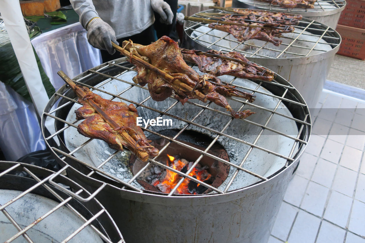
[[[122,53],[123,55],[129,57],[132,61],[136,62],[139,65],[142,65],[144,67],[146,67],[149,70],[152,70],[154,72],[156,72],[159,76],[161,76],[165,81],[169,82],[172,86],[174,86],[177,89],[183,89],[185,91],[188,91],[190,93],[192,93],[192,95],[194,95],[197,99],[203,101],[203,102],[207,102],[207,96],[205,96],[203,93],[199,92],[198,90],[190,87],[189,85],[176,80],[174,77],[172,77],[170,74],[164,72],[163,70],[151,65],[150,63],[146,62],[145,60],[137,57],[136,55],[131,55],[131,53],[125,49],[123,49],[122,47],[116,45],[115,43],[112,42],[112,45],[114,47],[115,50],[119,51],[120,53]]]

